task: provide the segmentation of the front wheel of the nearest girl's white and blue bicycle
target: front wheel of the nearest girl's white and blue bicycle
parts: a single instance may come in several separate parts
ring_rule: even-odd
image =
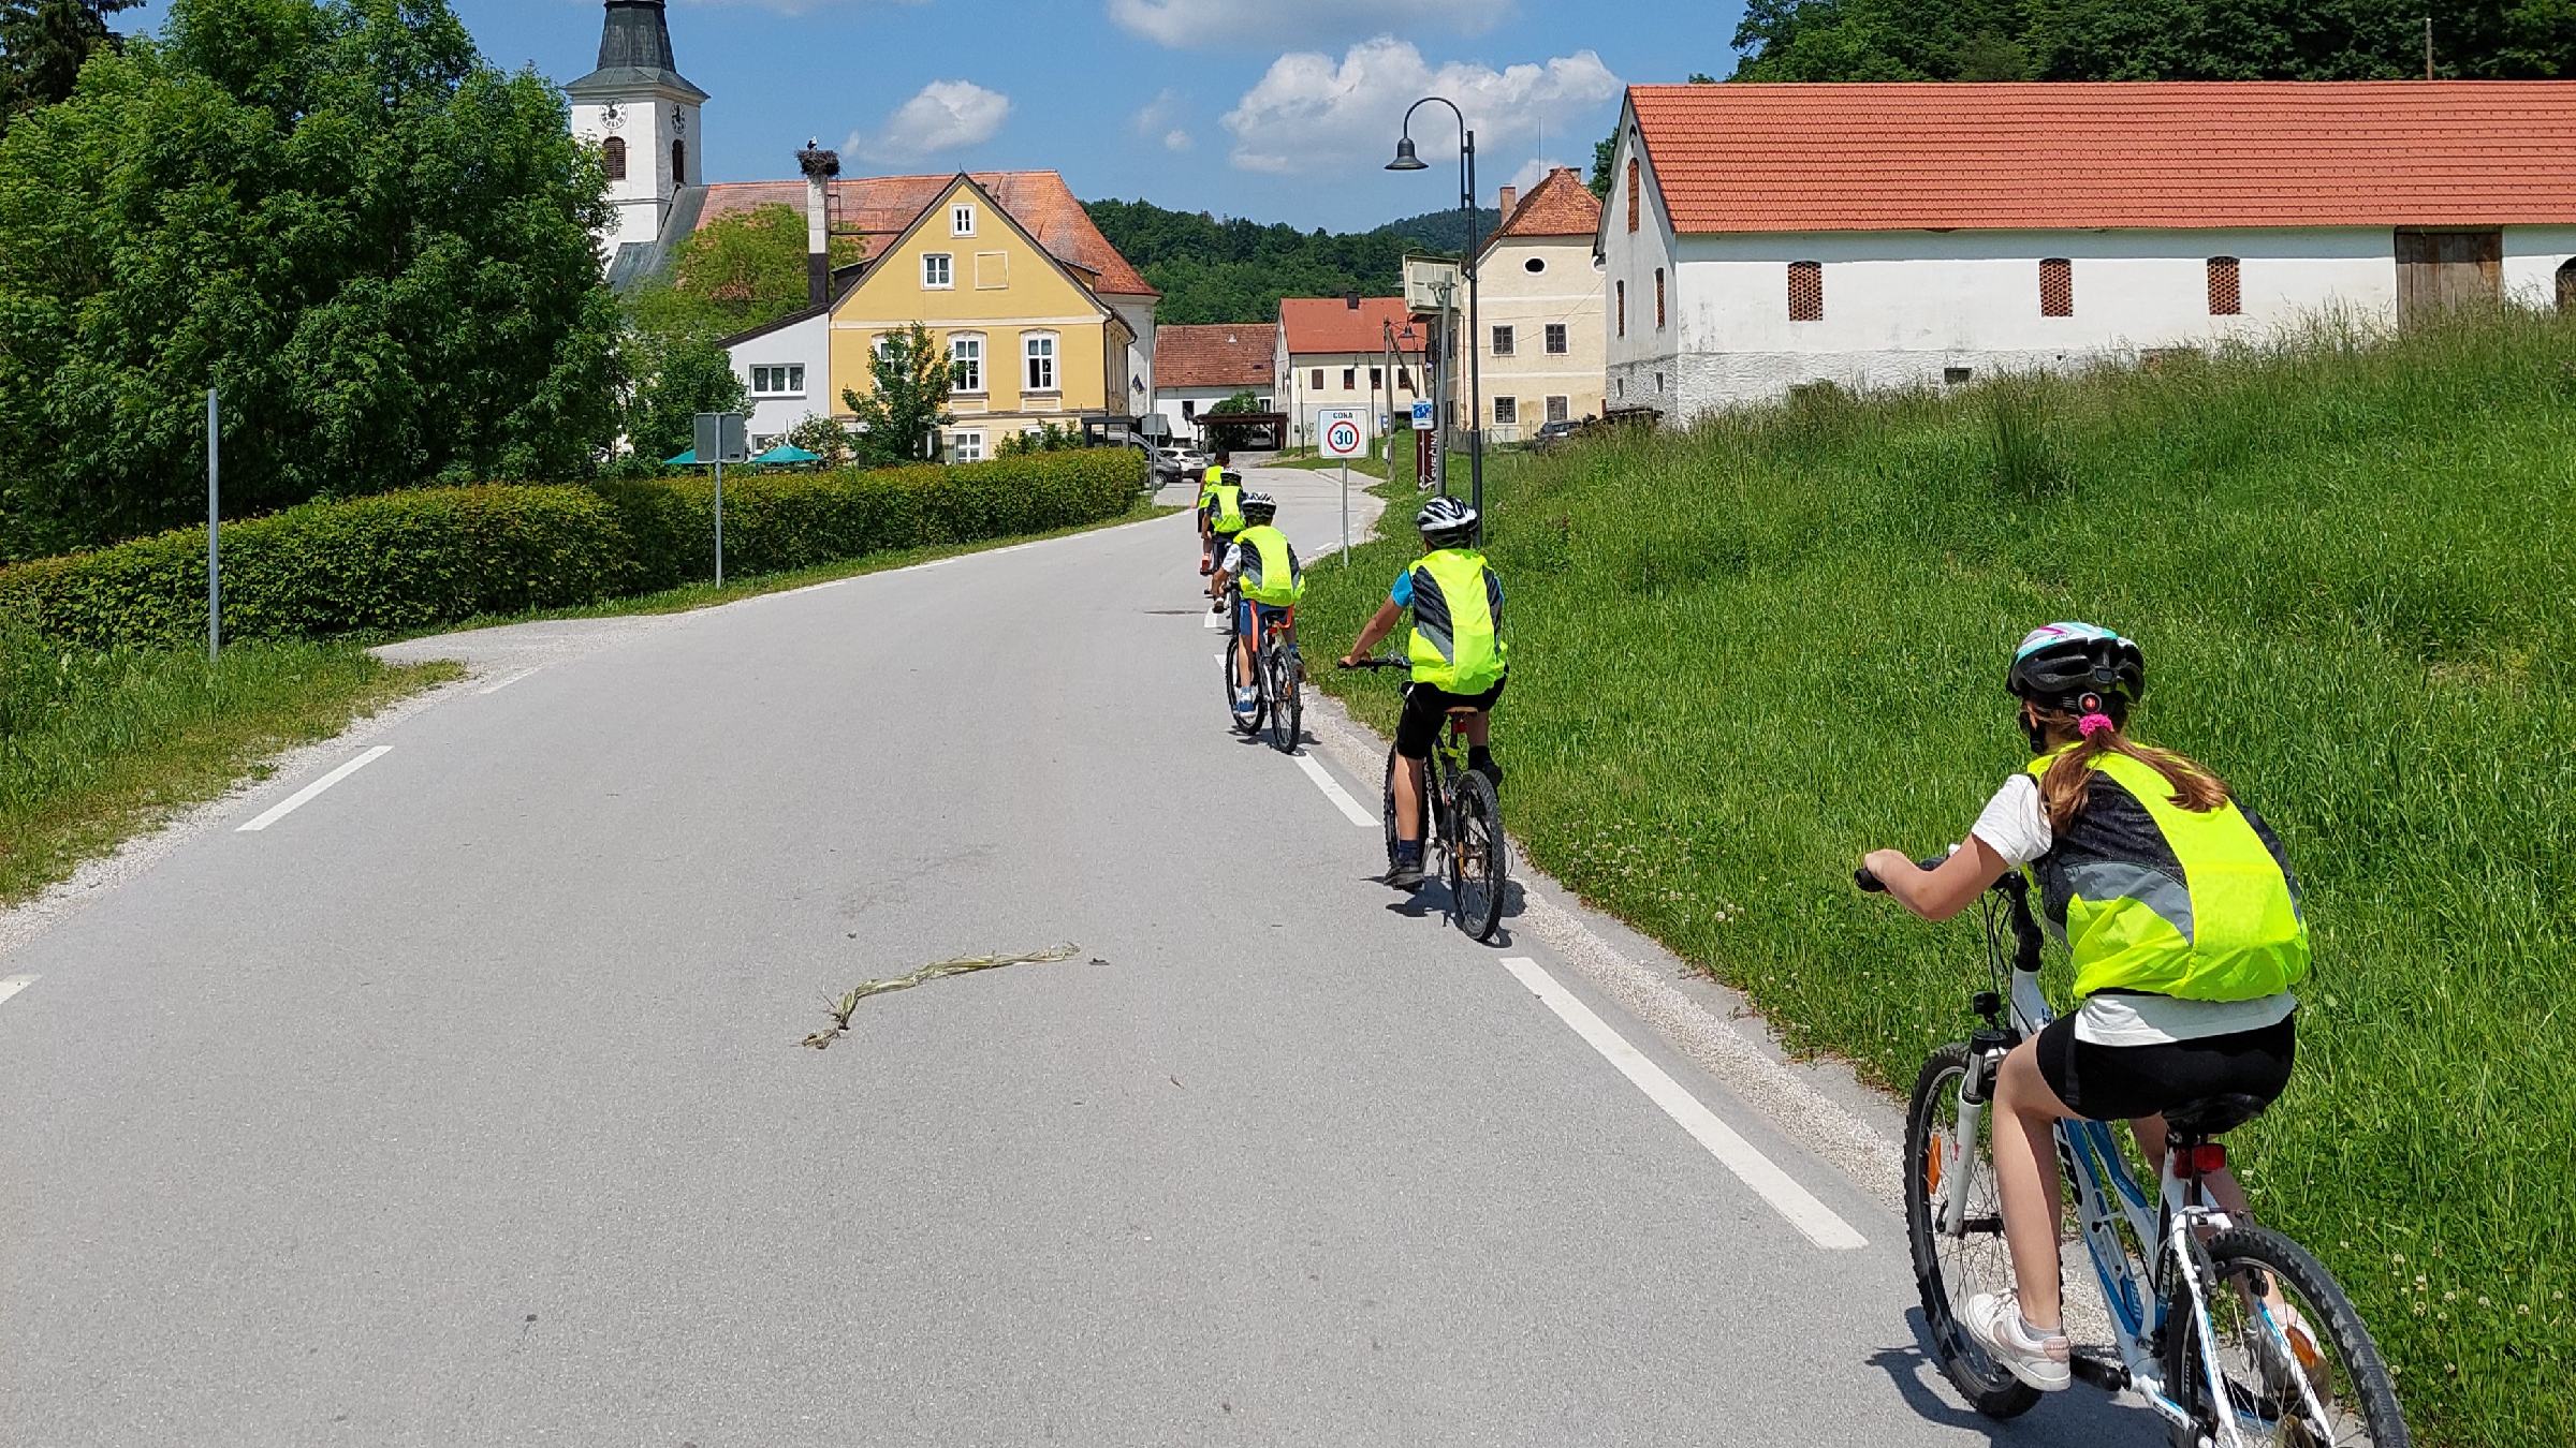
[[[1989,1136],[1978,1131],[1965,1149],[1958,1141],[1958,1092],[1965,1082],[1965,1041],[1932,1051],[1914,1077],[1914,1105],[1906,1108],[1906,1247],[1924,1299],[1932,1358],[1968,1407],[2004,1420],[2030,1412],[2040,1391],[1989,1358],[1958,1319],[1971,1296],[2012,1291],[2012,1252],[2004,1247],[2004,1201],[1994,1188]],[[1932,1198],[1945,1185],[1968,1193],[1965,1229],[1958,1237],[1932,1219]]]

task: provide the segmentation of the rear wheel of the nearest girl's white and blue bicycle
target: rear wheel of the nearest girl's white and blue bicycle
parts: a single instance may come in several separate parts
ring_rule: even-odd
[[[2401,1448],[2406,1415],[2362,1314],[2306,1247],[2267,1226],[2231,1226],[2197,1255],[2208,1293],[2208,1342],[2218,1384],[2200,1360],[2202,1319],[2169,1270],[2164,1299],[2164,1396],[2192,1415],[2174,1443],[2218,1438],[2233,1417],[2249,1445]],[[2223,1407],[2221,1407],[2223,1399]]]

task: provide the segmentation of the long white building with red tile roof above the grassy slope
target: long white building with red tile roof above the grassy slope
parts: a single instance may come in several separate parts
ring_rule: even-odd
[[[2576,283],[2576,82],[1641,85],[1610,412],[2403,322]]]

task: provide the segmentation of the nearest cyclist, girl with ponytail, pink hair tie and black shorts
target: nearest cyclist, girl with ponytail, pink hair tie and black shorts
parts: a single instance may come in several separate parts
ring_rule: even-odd
[[[2290,987],[2308,976],[2308,925],[2272,830],[2202,765],[2128,737],[2146,691],[2138,644],[2092,624],[2050,624],[2022,639],[2007,688],[2038,757],[1940,866],[1927,871],[1901,850],[1862,863],[1924,920],[1950,920],[2004,871],[2027,868],[2074,956],[2081,1007],[2014,1046],[1994,1087],[1994,1175],[2017,1293],[1978,1293],[1960,1311],[2012,1376],[2063,1389],[2056,1121],[2128,1118],[2156,1162],[2164,1110],[2213,1095],[2277,1100],[2290,1085]],[[2251,1221],[2231,1172],[2205,1185]]]

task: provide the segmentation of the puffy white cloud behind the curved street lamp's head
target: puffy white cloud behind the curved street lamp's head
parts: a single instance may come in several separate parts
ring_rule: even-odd
[[[1350,46],[1340,62],[1316,52],[1283,54],[1226,113],[1226,129],[1234,131],[1231,160],[1242,170],[1378,167],[1396,155],[1404,108],[1422,95],[1455,100],[1476,131],[1476,149],[1494,155],[1540,126],[1556,131],[1620,90],[1620,77],[1592,52],[1504,70],[1473,62],[1435,70],[1412,41],[1378,36]],[[1425,106],[1414,121],[1422,160],[1458,155],[1448,108]]]

